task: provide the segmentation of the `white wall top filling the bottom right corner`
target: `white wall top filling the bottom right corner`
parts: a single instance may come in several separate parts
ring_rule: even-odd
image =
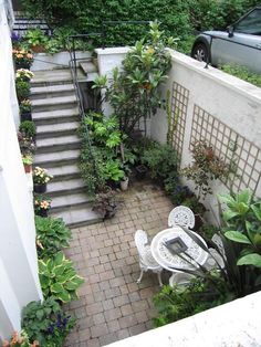
[[[259,347],[261,292],[109,347]]]

